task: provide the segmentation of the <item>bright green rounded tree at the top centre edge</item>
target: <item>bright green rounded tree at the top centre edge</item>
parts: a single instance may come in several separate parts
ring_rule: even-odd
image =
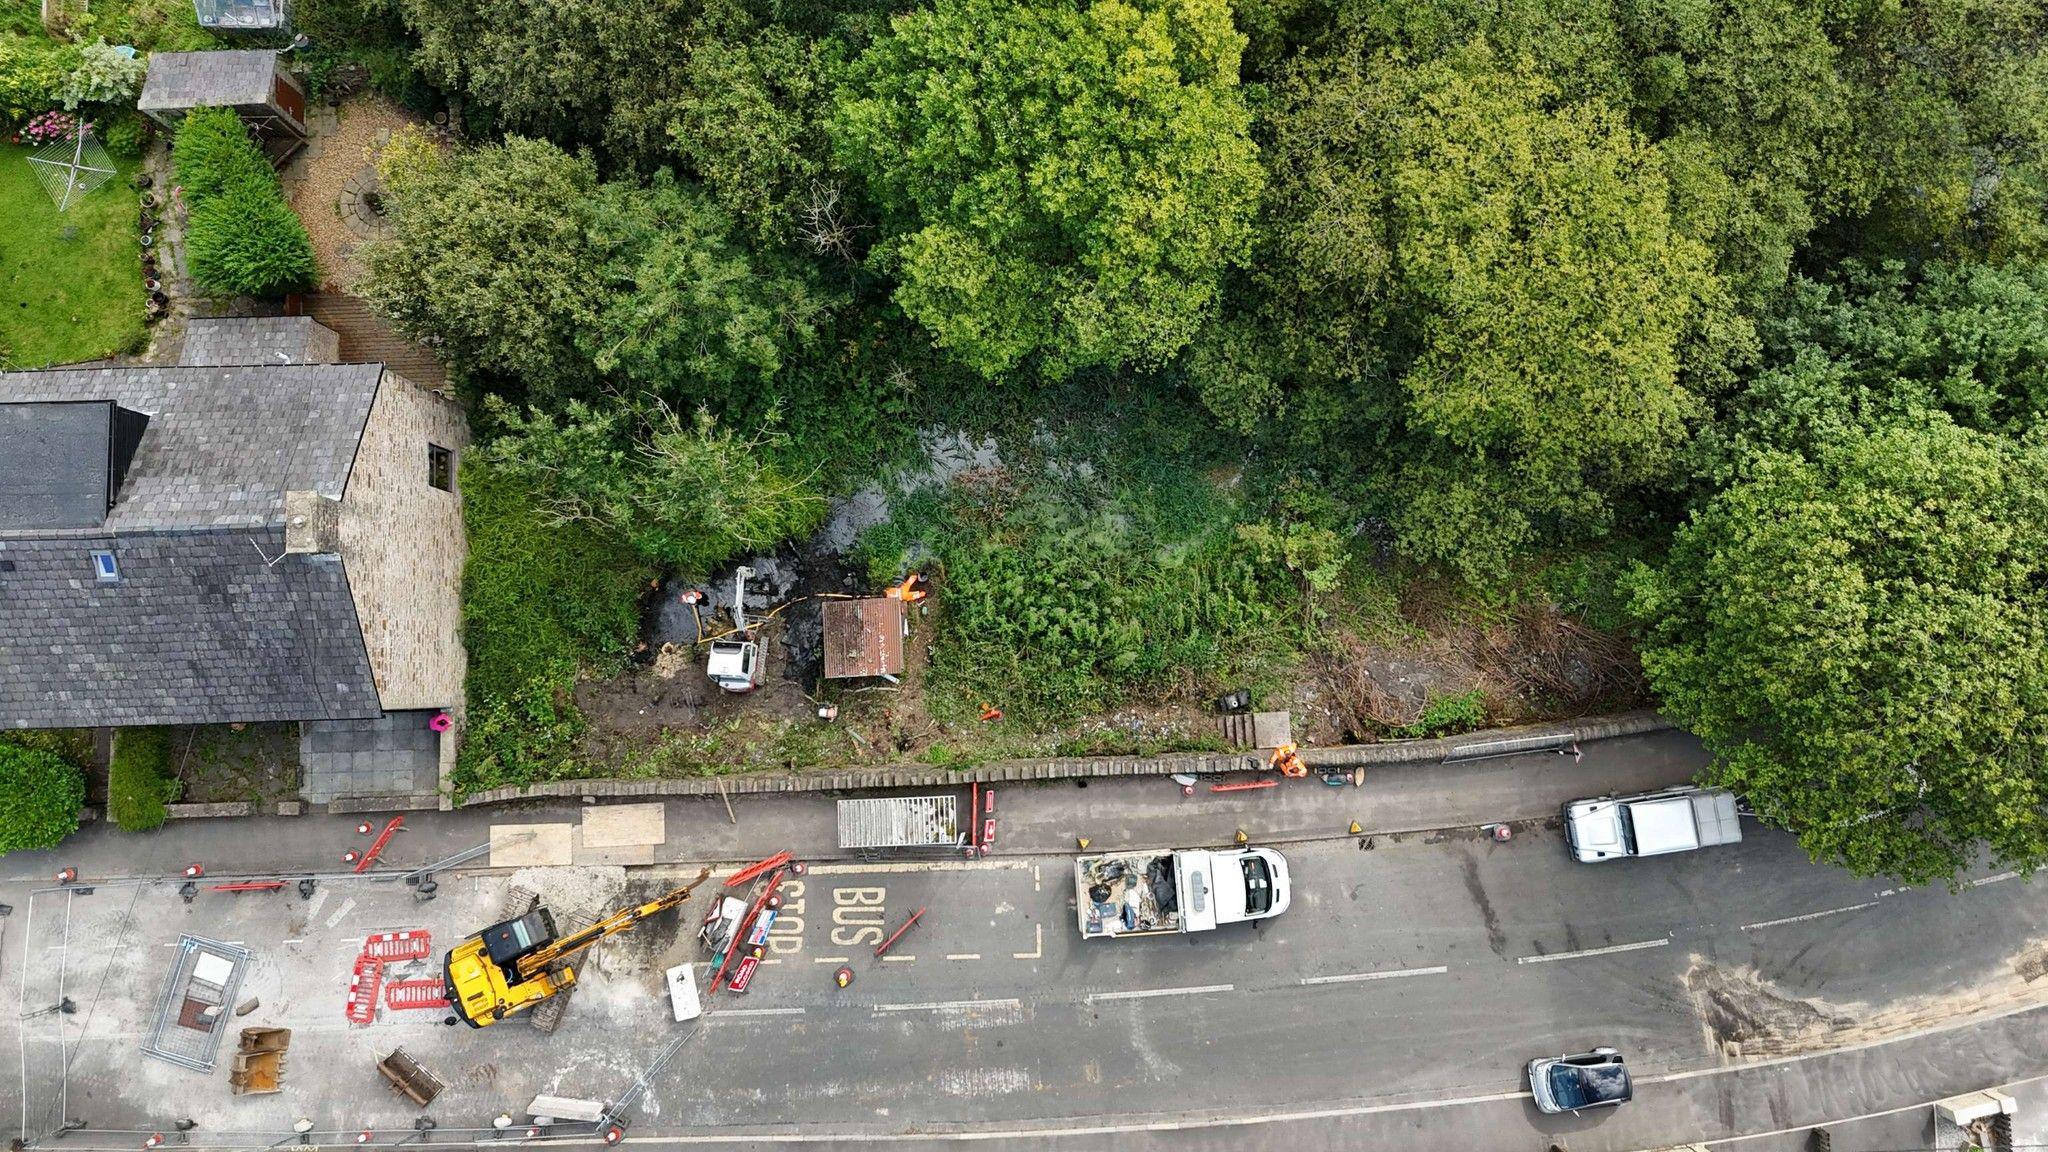
[[[1241,262],[1262,176],[1221,0],[938,0],[829,119],[885,215],[874,264],[985,375],[1159,365]]]

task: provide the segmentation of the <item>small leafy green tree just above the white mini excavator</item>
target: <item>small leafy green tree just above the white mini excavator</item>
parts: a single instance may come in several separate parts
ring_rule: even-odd
[[[739,437],[702,408],[684,424],[655,406],[645,428],[629,410],[598,412],[580,402],[563,420],[522,416],[498,402],[494,418],[504,435],[489,447],[492,463],[541,486],[559,521],[602,525],[647,560],[692,578],[803,535],[825,512],[809,476],[768,459],[780,447],[772,430]]]

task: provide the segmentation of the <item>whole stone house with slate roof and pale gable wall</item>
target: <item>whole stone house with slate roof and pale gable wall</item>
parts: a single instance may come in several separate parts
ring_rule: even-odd
[[[305,797],[432,793],[463,412],[307,318],[0,373],[0,728],[299,722]]]

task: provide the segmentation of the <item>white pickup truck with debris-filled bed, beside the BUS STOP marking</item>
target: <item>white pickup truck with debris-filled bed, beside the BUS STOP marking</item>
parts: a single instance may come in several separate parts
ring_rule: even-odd
[[[1206,933],[1286,912],[1286,857],[1272,849],[1176,849],[1073,861],[1083,939]]]

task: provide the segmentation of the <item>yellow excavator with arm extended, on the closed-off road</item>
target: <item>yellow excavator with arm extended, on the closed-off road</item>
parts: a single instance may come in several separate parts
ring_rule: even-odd
[[[473,1029],[489,1027],[567,992],[575,986],[575,970],[565,963],[571,955],[604,937],[633,931],[647,916],[682,904],[690,898],[690,890],[705,881],[705,875],[711,875],[711,869],[705,869],[688,888],[678,888],[647,904],[621,908],[596,924],[559,939],[555,937],[555,916],[547,908],[535,908],[524,916],[483,929],[449,949],[440,965],[455,1017]]]

